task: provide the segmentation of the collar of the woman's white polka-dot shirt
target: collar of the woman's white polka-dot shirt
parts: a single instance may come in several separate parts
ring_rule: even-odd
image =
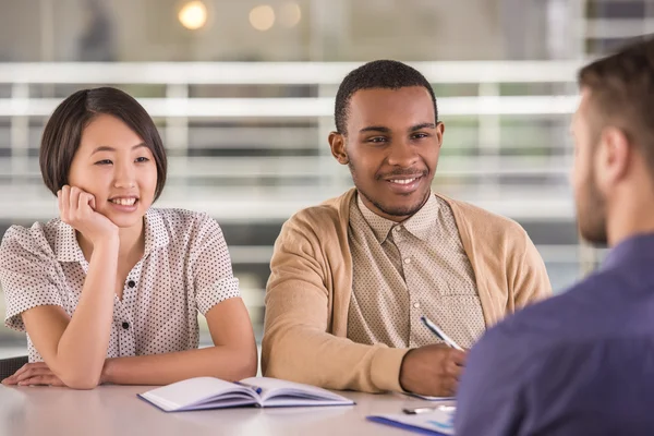
[[[154,249],[168,245],[170,242],[164,219],[159,211],[155,208],[149,208],[145,214],[145,252],[143,256],[147,256]],[[59,262],[82,262],[84,253],[77,243],[77,235],[73,227],[63,221],[59,221],[57,229],[57,238],[55,240],[55,254]]]

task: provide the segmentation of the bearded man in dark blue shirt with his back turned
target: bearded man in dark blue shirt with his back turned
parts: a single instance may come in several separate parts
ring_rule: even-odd
[[[610,251],[472,349],[459,436],[654,434],[654,39],[583,68],[579,84],[579,228]]]

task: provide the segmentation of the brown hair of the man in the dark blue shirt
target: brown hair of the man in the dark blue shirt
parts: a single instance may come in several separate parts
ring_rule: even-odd
[[[620,129],[638,145],[654,177],[654,38],[632,43],[579,72],[579,85],[591,90],[592,129]]]

